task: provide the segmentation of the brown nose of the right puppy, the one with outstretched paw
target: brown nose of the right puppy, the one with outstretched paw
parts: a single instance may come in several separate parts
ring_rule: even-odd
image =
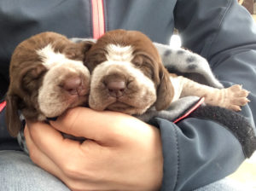
[[[120,97],[124,95],[126,88],[125,81],[108,81],[107,88],[110,96]]]

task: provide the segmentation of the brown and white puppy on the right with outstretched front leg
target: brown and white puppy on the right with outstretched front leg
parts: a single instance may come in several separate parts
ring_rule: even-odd
[[[166,71],[154,44],[142,32],[107,32],[86,52],[91,73],[89,106],[128,114],[166,109],[181,96],[239,111],[247,103],[240,85],[216,89]]]

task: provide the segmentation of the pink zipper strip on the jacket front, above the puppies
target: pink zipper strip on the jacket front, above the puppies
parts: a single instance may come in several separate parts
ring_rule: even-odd
[[[93,38],[100,38],[105,32],[103,0],[90,0],[92,8]]]

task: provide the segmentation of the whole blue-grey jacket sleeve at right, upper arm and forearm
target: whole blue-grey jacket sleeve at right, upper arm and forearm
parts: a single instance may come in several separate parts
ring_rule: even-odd
[[[242,107],[255,131],[256,26],[236,0],[177,0],[175,25],[183,46],[204,56],[225,85],[242,84],[251,101]],[[211,120],[178,124],[155,119],[164,153],[161,190],[193,190],[230,175],[245,159],[230,130]]]

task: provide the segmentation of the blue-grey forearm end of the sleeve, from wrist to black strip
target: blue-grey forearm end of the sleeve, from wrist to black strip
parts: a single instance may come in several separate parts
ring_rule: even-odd
[[[241,144],[220,124],[184,119],[173,124],[155,118],[160,128],[164,169],[161,191],[193,190],[236,171],[245,159]]]

